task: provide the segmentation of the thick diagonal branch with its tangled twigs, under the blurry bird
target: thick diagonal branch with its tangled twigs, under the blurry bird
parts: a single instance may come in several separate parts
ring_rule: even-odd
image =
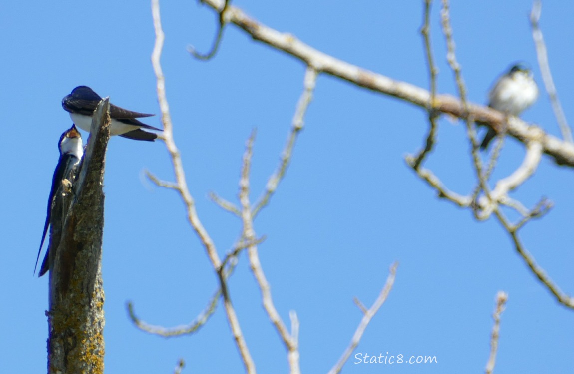
[[[203,0],[201,1],[207,4],[212,9],[216,11],[221,11],[224,6],[223,0]],[[480,106],[477,104],[469,103],[466,100],[466,88],[460,73],[460,65],[457,64],[455,53],[454,53],[454,42],[452,40],[452,29],[449,21],[449,5],[447,0],[443,0],[443,9],[441,11],[443,32],[445,38],[447,39],[448,53],[447,59],[451,68],[455,72],[455,79],[457,81],[457,87],[459,89],[460,99],[454,98],[450,95],[436,95],[433,98],[432,92],[425,91],[422,88],[416,87],[414,85],[395,81],[389,77],[379,75],[374,72],[367,71],[365,69],[356,67],[354,65],[345,63],[344,61],[335,59],[332,56],[320,52],[319,50],[311,48],[304,44],[303,42],[297,40],[291,34],[279,33],[265,25],[262,25],[253,18],[248,17],[241,9],[237,7],[228,6],[226,10],[226,19],[238,26],[240,29],[244,30],[246,33],[250,34],[254,40],[261,41],[266,45],[272,46],[278,50],[282,50],[307,64],[309,67],[313,68],[317,73],[327,73],[332,76],[339,77],[340,79],[347,80],[353,84],[360,87],[365,87],[376,92],[381,92],[386,95],[394,96],[395,98],[404,100],[425,108],[426,110],[431,109],[429,113],[429,118],[432,120],[434,111],[441,113],[453,115],[457,118],[466,120],[467,135],[470,139],[472,149],[472,161],[475,167],[475,172],[478,180],[478,185],[474,188],[474,192],[470,196],[461,196],[459,194],[453,193],[448,190],[440,181],[440,179],[435,176],[430,170],[422,169],[421,163],[422,159],[432,149],[433,144],[433,131],[434,128],[431,122],[429,135],[427,137],[426,145],[422,151],[418,153],[417,156],[409,156],[406,158],[408,164],[416,170],[418,176],[423,178],[429,185],[433,186],[439,193],[439,197],[447,198],[454,204],[460,207],[470,207],[473,209],[476,219],[482,220],[486,219],[492,212],[505,228],[510,229],[509,233],[515,239],[515,243],[518,243],[518,237],[516,236],[516,231],[519,227],[522,227],[525,222],[533,217],[539,216],[540,214],[548,211],[550,204],[546,204],[543,199],[537,207],[527,212],[522,204],[510,199],[507,196],[507,192],[515,188],[513,180],[526,180],[528,176],[532,173],[531,170],[536,168],[540,157],[537,156],[537,147],[540,147],[542,153],[550,155],[554,158],[554,161],[559,165],[574,166],[574,145],[567,141],[561,141],[560,139],[553,137],[552,135],[545,134],[542,128],[538,126],[533,126],[523,122],[521,119],[514,116],[507,117],[501,112],[492,110],[491,108]],[[430,2],[425,2],[425,24],[421,29],[421,33],[426,38],[425,33],[428,33],[428,29],[425,28],[426,17],[429,17]],[[431,75],[431,91],[433,90],[432,76],[435,71],[432,68],[432,55],[429,53],[430,39],[425,39],[425,48],[427,50],[427,60],[429,63],[429,71]],[[510,179],[502,180],[500,184],[495,187],[494,198],[490,196],[490,187],[487,184],[488,177],[490,176],[492,169],[494,168],[496,159],[498,158],[498,151],[501,149],[502,144],[499,142],[497,148],[492,154],[490,161],[486,169],[482,165],[482,161],[477,151],[476,144],[476,131],[474,128],[474,121],[480,121],[487,123],[488,126],[495,128],[496,130],[501,130],[505,127],[505,132],[512,137],[518,139],[518,141],[526,144],[526,155],[525,162],[519,169],[511,174]],[[499,133],[502,131],[498,131]],[[508,183],[510,182],[510,183]],[[484,198],[480,198],[479,194],[484,193]],[[503,193],[506,192],[506,193]],[[542,204],[542,205],[541,205]],[[499,205],[506,205],[513,209],[516,209],[519,214],[521,214],[522,219],[518,224],[512,225],[507,222],[505,216],[503,216]],[[493,207],[494,206],[494,207]],[[526,214],[525,214],[526,213]],[[534,260],[528,255],[525,256],[521,251],[521,246],[515,246],[522,258],[526,260],[529,264],[529,268],[534,272],[537,277],[542,280],[542,283],[552,292],[561,303],[569,306],[569,297],[553,285],[548,278],[542,274],[541,268],[536,266]]]

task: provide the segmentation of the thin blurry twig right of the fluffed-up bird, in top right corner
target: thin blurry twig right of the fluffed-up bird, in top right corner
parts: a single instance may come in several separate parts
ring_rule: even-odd
[[[544,87],[546,88],[546,93],[548,93],[550,98],[550,104],[552,104],[552,110],[554,111],[556,122],[558,122],[558,126],[560,127],[562,138],[565,141],[572,143],[572,131],[570,130],[570,126],[568,126],[566,116],[564,115],[560,100],[558,99],[558,93],[556,92],[554,80],[552,79],[552,73],[550,73],[550,65],[548,64],[546,44],[544,42],[544,38],[542,37],[540,26],[538,26],[541,12],[542,3],[540,0],[534,1],[532,4],[532,11],[530,11],[530,26],[532,27],[532,39],[534,40],[534,46],[536,46],[538,67],[540,67],[540,73],[542,75],[542,80],[544,81]]]

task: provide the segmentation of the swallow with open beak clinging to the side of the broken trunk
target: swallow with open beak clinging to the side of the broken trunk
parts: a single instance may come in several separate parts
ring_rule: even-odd
[[[42,233],[42,241],[40,241],[40,249],[38,249],[36,266],[34,266],[34,273],[36,273],[36,268],[38,267],[38,259],[40,259],[40,252],[42,251],[42,246],[44,245],[44,240],[46,239],[46,233],[48,233],[48,227],[52,223],[52,219],[55,216],[52,214],[52,209],[58,205],[56,204],[58,197],[57,193],[59,192],[64,180],[73,181],[80,160],[84,155],[82,135],[80,135],[79,131],[77,131],[75,124],[73,124],[72,127],[68,130],[64,131],[64,134],[62,134],[60,137],[58,146],[60,148],[60,159],[58,161],[58,165],[56,166],[56,170],[54,170],[54,176],[52,177],[52,189],[50,190],[50,197],[48,198],[48,212],[46,213],[46,222],[44,224],[44,232]],[[49,270],[50,248],[55,251],[58,244],[59,243],[49,244],[48,250],[46,251],[46,255],[44,257],[44,262],[42,262],[38,276],[44,275],[46,271]]]

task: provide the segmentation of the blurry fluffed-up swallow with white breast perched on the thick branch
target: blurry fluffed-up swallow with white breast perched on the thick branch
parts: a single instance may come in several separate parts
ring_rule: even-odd
[[[498,78],[488,92],[488,106],[506,115],[518,116],[534,104],[537,98],[538,86],[532,71],[524,64],[515,64]],[[486,149],[496,135],[496,131],[489,127],[480,143],[480,149]]]

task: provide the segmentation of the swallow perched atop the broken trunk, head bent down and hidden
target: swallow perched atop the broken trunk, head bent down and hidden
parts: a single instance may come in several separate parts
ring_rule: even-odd
[[[73,123],[82,130],[90,131],[92,116],[102,98],[90,87],[80,85],[72,90],[68,96],[62,99],[64,110],[69,112]],[[124,138],[154,141],[157,134],[148,133],[142,128],[163,131],[161,128],[139,122],[137,118],[149,117],[154,114],[138,113],[120,108],[110,103],[111,126],[110,134]]]

